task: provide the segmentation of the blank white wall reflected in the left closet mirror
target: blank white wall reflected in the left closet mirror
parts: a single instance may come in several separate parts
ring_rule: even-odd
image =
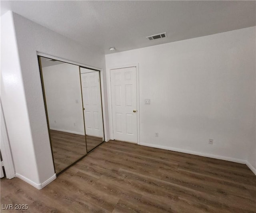
[[[43,76],[50,129],[84,135],[79,67],[43,67]]]

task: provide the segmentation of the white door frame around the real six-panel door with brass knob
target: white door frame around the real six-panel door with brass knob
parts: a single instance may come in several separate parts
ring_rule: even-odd
[[[137,99],[137,144],[140,144],[140,87],[139,87],[139,63],[132,63],[126,65],[117,65],[109,67],[106,69],[107,77],[107,92],[108,92],[108,115],[109,115],[109,131],[110,131],[110,140],[114,140],[114,128],[113,128],[113,116],[112,116],[112,94],[111,94],[111,75],[110,71],[112,69],[123,69],[135,67],[136,69],[136,99]]]

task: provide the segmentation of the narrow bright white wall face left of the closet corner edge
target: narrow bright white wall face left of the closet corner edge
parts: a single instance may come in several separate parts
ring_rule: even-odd
[[[14,94],[14,96],[13,96]],[[39,183],[11,13],[1,16],[1,101],[15,172]],[[23,160],[21,160],[23,159]],[[49,170],[53,173],[53,166]],[[53,173],[54,174],[54,173]]]

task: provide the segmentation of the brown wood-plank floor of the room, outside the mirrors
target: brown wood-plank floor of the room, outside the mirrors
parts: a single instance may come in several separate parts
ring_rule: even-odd
[[[1,204],[17,203],[31,213],[256,212],[256,176],[243,164],[110,141],[42,190],[1,179]]]

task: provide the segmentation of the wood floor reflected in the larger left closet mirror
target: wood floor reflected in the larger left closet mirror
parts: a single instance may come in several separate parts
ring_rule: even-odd
[[[50,134],[56,174],[86,154],[84,135],[56,130],[50,130]]]

